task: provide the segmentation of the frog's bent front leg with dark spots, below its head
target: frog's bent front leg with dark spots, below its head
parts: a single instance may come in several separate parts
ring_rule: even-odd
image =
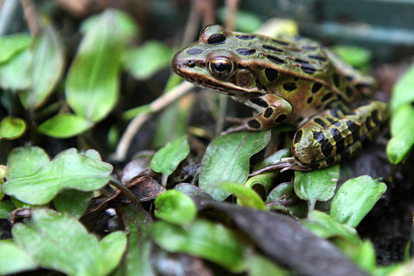
[[[243,103],[256,109],[259,114],[252,118],[247,118],[241,125],[231,128],[223,134],[240,131],[263,131],[273,128],[275,125],[282,123],[286,118],[292,115],[293,107],[284,98],[269,93],[258,98],[245,100]]]

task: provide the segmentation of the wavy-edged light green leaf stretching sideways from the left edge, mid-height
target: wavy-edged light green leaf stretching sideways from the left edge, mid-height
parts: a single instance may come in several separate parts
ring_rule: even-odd
[[[112,166],[72,154],[48,162],[30,176],[14,178],[1,185],[2,192],[27,204],[46,204],[62,189],[93,191],[111,177]]]

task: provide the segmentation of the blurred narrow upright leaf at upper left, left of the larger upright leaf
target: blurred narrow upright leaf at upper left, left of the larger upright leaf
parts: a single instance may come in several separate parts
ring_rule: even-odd
[[[32,64],[30,89],[19,93],[25,109],[36,109],[42,105],[63,72],[63,49],[51,26],[43,30],[34,44]]]

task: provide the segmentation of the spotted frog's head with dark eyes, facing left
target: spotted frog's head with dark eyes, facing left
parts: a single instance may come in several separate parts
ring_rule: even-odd
[[[227,95],[254,98],[266,93],[254,75],[256,50],[245,47],[247,40],[237,36],[255,37],[207,26],[196,43],[175,54],[172,70],[187,82]]]

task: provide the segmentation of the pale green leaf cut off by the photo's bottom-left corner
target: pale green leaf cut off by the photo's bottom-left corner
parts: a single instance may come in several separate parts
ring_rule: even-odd
[[[20,273],[36,269],[30,256],[11,240],[0,240],[0,275]]]

